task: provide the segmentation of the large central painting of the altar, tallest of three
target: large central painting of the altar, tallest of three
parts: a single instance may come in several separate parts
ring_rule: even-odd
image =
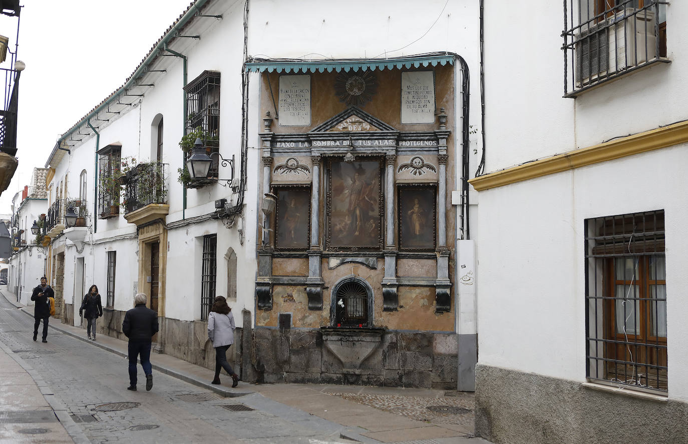
[[[381,249],[380,161],[332,160],[329,177],[327,247]]]

